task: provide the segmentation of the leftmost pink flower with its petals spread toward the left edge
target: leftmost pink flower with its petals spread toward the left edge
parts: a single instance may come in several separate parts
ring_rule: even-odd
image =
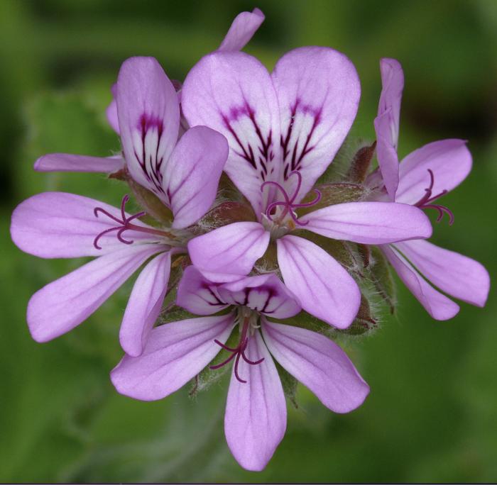
[[[93,313],[150,257],[136,280],[120,340],[139,355],[168,286],[171,257],[185,252],[187,231],[214,201],[228,145],[205,126],[178,141],[180,111],[173,85],[151,57],[124,62],[117,82],[119,126],[133,179],[172,211],[170,228],[153,228],[93,199],[65,193],[38,194],[12,215],[11,235],[21,250],[39,257],[99,256],[37,291],[28,303],[28,325],[45,342],[71,330]]]

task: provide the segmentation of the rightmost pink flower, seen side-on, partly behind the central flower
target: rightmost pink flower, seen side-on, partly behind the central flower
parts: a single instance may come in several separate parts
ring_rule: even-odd
[[[380,189],[384,186],[378,200],[434,209],[438,212],[437,221],[447,215],[452,225],[452,211],[440,205],[438,199],[468,176],[471,153],[464,140],[439,140],[418,148],[399,164],[397,143],[403,70],[394,59],[382,59],[380,66],[383,89],[375,119],[379,172],[368,177],[368,184]],[[459,311],[457,303],[433,286],[467,303],[485,305],[490,278],[479,262],[425,240],[383,245],[381,249],[400,279],[433,318],[447,320]]]

